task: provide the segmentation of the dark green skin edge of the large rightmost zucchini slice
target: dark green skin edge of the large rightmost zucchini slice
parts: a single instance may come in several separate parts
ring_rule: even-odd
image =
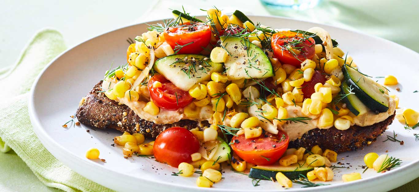
[[[350,70],[348,65],[342,66],[342,73],[344,74],[345,81],[348,84],[348,86],[352,86],[355,96],[357,96],[362,101],[362,103],[365,104],[365,106],[367,106],[373,112],[387,112],[388,104],[387,106],[385,106],[385,104],[381,104],[380,102],[373,99],[370,95],[365,93],[365,91],[362,90],[362,88],[360,88],[360,86],[358,86],[358,84],[356,83],[358,80],[352,79],[348,70]],[[365,78],[368,77],[365,76]]]

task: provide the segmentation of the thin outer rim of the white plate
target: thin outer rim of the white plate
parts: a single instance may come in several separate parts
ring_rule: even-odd
[[[294,19],[294,18],[287,18],[287,17],[283,17],[283,16],[264,16],[264,15],[251,15],[249,14],[248,16],[250,17],[260,17],[260,18],[265,18],[265,19],[285,19],[285,20],[290,20],[290,21],[295,21],[295,22],[305,22],[305,23],[310,23],[313,24],[313,26],[316,25],[323,25],[323,26],[328,26],[331,28],[336,28],[336,29],[340,29],[340,30],[344,30],[344,31],[350,31],[352,33],[355,34],[360,34],[360,35],[364,35],[364,36],[368,36],[369,38],[373,38],[373,39],[378,39],[380,41],[384,41],[386,43],[390,43],[393,46],[397,46],[398,48],[404,49],[404,50],[409,50],[409,52],[411,52],[411,54],[416,54],[416,56],[419,56],[419,53],[415,52],[412,49],[409,49],[408,47],[404,47],[403,45],[397,44],[396,42],[392,42],[388,39],[384,39],[378,36],[373,36],[370,34],[366,34],[362,31],[357,31],[354,29],[345,29],[342,28],[340,26],[332,26],[331,24],[323,24],[323,23],[317,23],[317,22],[312,22],[312,21],[306,21],[306,20],[302,20],[302,19]],[[198,16],[201,17],[201,16]],[[45,129],[41,126],[40,123],[40,119],[38,117],[38,114],[36,114],[36,110],[35,110],[35,104],[34,104],[34,93],[35,93],[35,88],[36,86],[38,86],[38,81],[39,79],[42,77],[42,75],[45,73],[45,71],[57,60],[59,59],[63,54],[66,54],[67,52],[70,52],[72,49],[75,49],[76,47],[80,46],[81,44],[85,44],[86,42],[89,42],[93,39],[98,38],[99,36],[103,36],[105,34],[110,34],[113,33],[114,31],[118,31],[121,29],[126,29],[126,28],[130,28],[133,26],[137,26],[137,25],[141,25],[141,24],[146,24],[146,23],[155,23],[155,22],[159,22],[161,21],[161,19],[157,19],[157,20],[150,20],[150,21],[145,21],[145,22],[140,22],[140,23],[135,23],[135,24],[130,24],[127,26],[123,26],[123,27],[119,27],[117,29],[105,32],[103,34],[99,34],[96,35],[94,37],[91,37],[83,42],[80,42],[79,44],[74,45],[73,47],[68,48],[67,50],[65,50],[64,52],[62,52],[61,54],[57,55],[56,57],[54,57],[54,59],[52,59],[42,70],[41,72],[36,76],[36,79],[34,80],[34,83],[31,86],[31,90],[29,93],[29,98],[28,98],[28,112],[29,112],[29,117],[31,119],[31,124],[34,127],[34,132],[36,133],[37,137],[39,138],[39,140],[41,141],[41,143],[44,145],[45,148],[47,148],[47,150],[55,157],[57,158],[61,163],[65,164],[66,166],[68,166],[70,169],[72,169],[72,171],[75,171],[76,173],[80,174],[81,176],[84,176],[86,179],[89,179],[93,182],[96,182],[104,187],[108,187],[105,186],[103,184],[101,184],[99,181],[100,179],[98,178],[103,178],[102,176],[99,177],[90,177],[90,176],[86,176],[87,174],[82,174],[80,172],[80,167],[83,167],[83,169],[88,169],[94,172],[94,170],[98,170],[98,169],[103,169],[102,166],[100,166],[100,164],[94,162],[94,161],[85,161],[85,159],[81,158],[80,156],[76,155],[75,153],[72,153],[70,150],[67,150],[66,148],[64,148],[62,145],[59,145],[59,143],[57,143],[50,135],[47,134],[47,132],[45,131]],[[51,151],[55,151],[55,153],[53,154]],[[61,152],[59,152],[61,151]],[[64,158],[65,154],[67,155],[67,159]],[[58,157],[57,157],[58,156]],[[79,168],[76,166],[70,166],[69,162],[72,161],[77,161],[79,164]],[[410,171],[409,171],[410,169]],[[347,191],[347,190],[354,190],[354,188],[356,187],[356,189],[371,189],[371,185],[372,184],[378,184],[378,183],[386,183],[386,182],[390,182],[393,177],[397,177],[397,176],[406,176],[406,175],[416,175],[416,177],[419,177],[419,172],[415,172],[415,170],[419,169],[419,159],[416,161],[412,161],[411,163],[408,163],[404,166],[401,166],[399,168],[397,168],[397,171],[387,171],[383,174],[377,175],[377,176],[372,176],[369,177],[367,179],[360,179],[358,181],[354,181],[354,182],[348,182],[348,183],[339,183],[339,184],[332,184],[332,185],[326,185],[326,186],[320,186],[320,187],[315,187],[315,188],[299,188],[297,189],[297,191],[311,191],[311,192],[315,192],[315,191],[321,191],[321,192],[328,192],[328,191],[333,191],[335,189],[340,189],[343,191]],[[76,171],[79,170],[79,171]],[[107,175],[113,175],[114,177],[123,177],[123,176],[127,176],[125,174],[121,174],[119,172],[116,171],[112,171],[109,169],[103,169],[104,171],[108,172]],[[109,174],[109,172],[111,174]],[[116,176],[116,174],[118,176]],[[416,179],[416,177],[411,177],[412,179],[405,179],[403,181],[405,182],[398,182],[397,184],[393,184],[391,188],[387,188],[387,187],[383,187],[381,186],[380,189],[395,189],[397,187],[400,187],[403,184],[406,184],[414,179]],[[136,178],[137,179],[137,178]],[[174,183],[168,183],[168,182],[158,182],[155,180],[151,180],[151,179],[145,179],[142,178],[145,181],[151,182],[148,183],[147,185],[151,188],[155,187],[154,184],[162,184],[165,185],[165,187],[171,187],[171,189],[189,189],[189,190],[195,190],[195,191],[230,191],[230,192],[253,192],[255,191],[255,189],[253,190],[242,190],[242,189],[217,189],[217,188],[199,188],[199,187],[195,187],[195,186],[183,186],[181,184],[174,184]],[[372,182],[373,181],[373,182]],[[368,185],[368,183],[371,183],[370,185]],[[142,182],[142,185],[146,184],[145,182]],[[375,189],[377,189],[377,186],[374,186]],[[114,189],[115,190],[115,189]],[[257,190],[257,189],[256,189]],[[263,189],[261,190],[263,192],[276,192],[278,191],[277,189]]]

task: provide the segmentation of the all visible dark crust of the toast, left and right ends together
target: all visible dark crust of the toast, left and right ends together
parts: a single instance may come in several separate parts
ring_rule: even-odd
[[[138,117],[128,106],[118,105],[116,101],[107,98],[103,93],[98,93],[97,91],[102,91],[101,85],[102,81],[97,83],[85,97],[83,105],[77,109],[76,117],[84,125],[99,129],[110,128],[131,134],[140,132],[147,138],[156,138],[160,132],[174,126],[185,127],[189,130],[209,126],[207,121],[199,123],[186,119],[166,125],[146,121]],[[123,112],[127,112],[126,117],[123,117]],[[314,145],[319,145],[322,149],[334,150],[336,153],[357,150],[367,145],[369,141],[376,141],[378,136],[382,135],[388,125],[393,122],[394,117],[395,114],[374,125],[366,127],[355,125],[347,130],[338,130],[335,127],[329,129],[316,128],[308,131],[301,138],[291,141],[289,148],[304,147],[310,149]]]

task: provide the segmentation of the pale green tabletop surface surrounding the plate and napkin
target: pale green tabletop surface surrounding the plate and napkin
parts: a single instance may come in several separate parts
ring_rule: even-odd
[[[419,35],[419,2],[415,0],[326,0],[318,7],[305,11],[266,10],[257,0],[194,0],[194,5],[191,5],[190,0],[177,0],[177,4],[161,0],[125,1],[119,4],[114,2],[0,1],[0,68],[12,65],[26,42],[41,28],[58,29],[66,39],[67,46],[72,47],[112,29],[170,16],[167,8],[179,4],[195,9],[216,5],[219,8],[240,9],[245,13],[272,14],[327,23],[380,36],[419,52],[416,40]],[[196,10],[191,12],[197,13]],[[368,44],[366,42],[359,46],[360,49],[365,49]],[[39,182],[13,152],[0,153],[0,171],[2,192],[58,191]],[[417,189],[419,179],[409,187]],[[409,189],[400,188],[395,191],[406,190]]]

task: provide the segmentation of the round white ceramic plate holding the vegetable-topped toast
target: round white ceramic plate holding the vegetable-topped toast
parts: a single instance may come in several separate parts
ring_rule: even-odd
[[[272,26],[274,29],[308,29],[320,26],[326,29],[332,39],[337,39],[339,47],[349,52],[354,58],[360,70],[376,77],[395,75],[400,84],[389,88],[391,94],[400,97],[401,107],[409,107],[419,110],[419,102],[416,98],[419,90],[416,75],[419,74],[419,66],[414,61],[419,60],[419,54],[402,47],[396,43],[380,39],[354,31],[339,29],[317,23],[297,21],[279,17],[251,16],[253,21]],[[159,21],[150,21],[156,23]],[[144,23],[117,29],[101,36],[79,44],[53,60],[35,81],[30,96],[29,114],[44,146],[59,161],[65,163],[74,171],[88,179],[109,187],[116,191],[278,191],[283,188],[277,183],[269,181],[260,182],[260,186],[253,187],[251,179],[242,174],[236,174],[225,168],[223,179],[213,188],[198,188],[193,177],[171,176],[177,172],[176,168],[153,159],[134,157],[124,159],[122,148],[111,146],[112,139],[121,135],[114,130],[91,130],[90,127],[81,125],[61,127],[70,120],[70,115],[75,114],[80,98],[85,96],[91,88],[103,78],[103,74],[109,69],[111,62],[116,65],[126,62],[125,52],[128,47],[126,39],[142,34],[147,29]],[[115,66],[115,65],[114,65]],[[383,83],[383,78],[378,78]],[[395,90],[401,88],[400,92]],[[393,130],[398,134],[397,139],[403,140],[404,145],[396,142],[383,142],[385,135],[393,135]],[[327,182],[327,186],[300,188],[294,184],[287,191],[388,191],[401,186],[419,176],[419,141],[416,142],[414,133],[419,130],[404,130],[399,122],[393,122],[390,129],[377,142],[365,147],[363,150],[341,153],[338,159],[350,169],[335,169],[333,182]],[[334,141],[330,141],[334,142]],[[85,158],[85,152],[89,148],[98,148],[101,151],[100,158],[106,159],[106,163]],[[362,179],[356,182],[343,183],[341,175],[351,172],[362,173],[359,166],[364,165],[363,156],[369,152],[384,154],[388,150],[390,156],[403,160],[402,166],[378,174],[373,170],[367,170],[362,174]],[[344,160],[341,160],[344,158]],[[350,164],[346,164],[350,163]],[[336,163],[334,163],[336,164]],[[339,166],[339,165],[337,165]]]

